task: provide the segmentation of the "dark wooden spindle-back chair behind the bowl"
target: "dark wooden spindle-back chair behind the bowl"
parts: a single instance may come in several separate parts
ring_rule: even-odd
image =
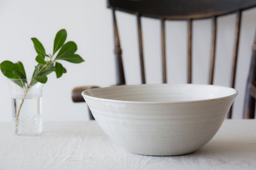
[[[115,11],[123,11],[126,13],[135,14],[137,16],[138,25],[138,40],[140,50],[140,66],[142,83],[146,83],[143,61],[143,40],[141,29],[141,16],[157,18],[161,20],[162,28],[162,83],[166,83],[166,62],[165,62],[165,20],[187,20],[188,22],[188,51],[187,51],[187,83],[192,83],[192,21],[212,18],[212,46],[211,46],[211,62],[209,84],[213,83],[214,64],[215,64],[215,49],[216,49],[216,31],[217,17],[236,13],[236,28],[233,49],[233,59],[231,63],[231,84],[234,88],[236,78],[236,66],[238,56],[238,44],[241,28],[241,13],[243,10],[256,6],[255,0],[108,0],[108,8],[113,12],[113,28],[114,28],[114,53],[116,61],[116,79],[117,85],[125,84],[123,71],[122,50],[120,47],[117,21]],[[253,45],[253,54],[251,58],[251,68],[248,77],[246,99],[244,106],[244,118],[254,118],[255,98],[256,98],[256,35]],[[84,102],[81,92],[85,89],[95,88],[95,86],[85,86],[74,88],[73,101]],[[91,114],[91,113],[90,113]],[[231,118],[232,107],[227,118]],[[93,119],[93,116],[90,115]]]

